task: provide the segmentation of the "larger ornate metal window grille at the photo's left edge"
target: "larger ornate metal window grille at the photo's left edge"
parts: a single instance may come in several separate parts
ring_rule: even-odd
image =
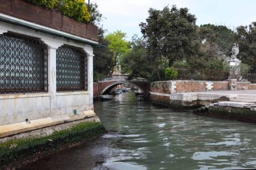
[[[0,35],[0,93],[48,91],[48,50],[37,38]]]

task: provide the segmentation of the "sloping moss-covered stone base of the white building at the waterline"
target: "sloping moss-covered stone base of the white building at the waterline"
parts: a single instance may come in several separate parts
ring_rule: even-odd
[[[18,169],[105,133],[97,116],[0,138],[0,169]]]

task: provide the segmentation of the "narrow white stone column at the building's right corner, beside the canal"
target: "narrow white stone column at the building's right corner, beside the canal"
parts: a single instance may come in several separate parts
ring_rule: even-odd
[[[94,110],[94,54],[88,54],[88,92],[90,93],[89,97],[89,110]]]

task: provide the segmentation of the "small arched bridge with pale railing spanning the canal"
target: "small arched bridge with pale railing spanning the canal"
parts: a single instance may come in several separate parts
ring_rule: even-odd
[[[111,89],[121,84],[130,84],[137,87],[142,93],[148,95],[150,83],[147,79],[141,77],[133,77],[129,79],[129,75],[108,75],[98,79],[98,92],[100,95],[107,94]]]

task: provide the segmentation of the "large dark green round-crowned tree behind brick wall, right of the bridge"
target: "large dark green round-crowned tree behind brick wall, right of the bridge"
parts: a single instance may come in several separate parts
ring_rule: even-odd
[[[162,11],[150,8],[147,23],[141,22],[141,33],[147,39],[148,59],[154,63],[160,80],[159,67],[162,58],[168,59],[169,65],[175,60],[197,54],[195,15],[187,8],[176,6],[164,7]]]

